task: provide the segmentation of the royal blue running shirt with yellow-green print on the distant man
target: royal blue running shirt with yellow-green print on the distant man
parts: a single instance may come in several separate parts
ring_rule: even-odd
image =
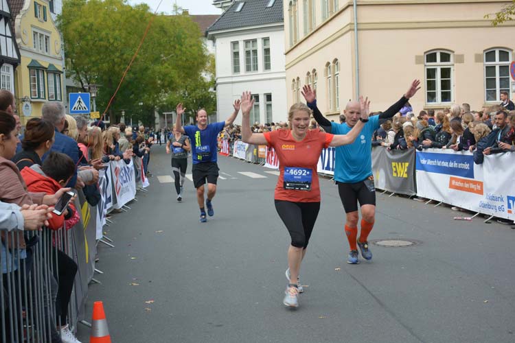
[[[218,146],[216,137],[218,132],[225,127],[225,121],[211,123],[207,128],[201,130],[198,126],[185,126],[184,132],[190,137],[192,142],[193,164],[216,162],[218,156]]]

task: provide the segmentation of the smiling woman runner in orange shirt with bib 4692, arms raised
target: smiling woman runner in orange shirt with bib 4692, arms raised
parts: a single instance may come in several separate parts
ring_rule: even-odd
[[[291,244],[288,248],[286,296],[283,303],[298,307],[297,295],[303,292],[299,281],[301,261],[306,255],[314,222],[320,209],[320,188],[317,163],[323,148],[354,142],[368,121],[368,99],[361,102],[361,118],[347,134],[328,134],[309,130],[311,110],[305,104],[294,104],[288,113],[290,130],[275,130],[252,133],[250,111],[254,100],[251,93],[244,92],[241,99],[242,141],[255,145],[268,145],[275,149],[279,158],[279,179],[275,186],[275,209],[288,229]]]

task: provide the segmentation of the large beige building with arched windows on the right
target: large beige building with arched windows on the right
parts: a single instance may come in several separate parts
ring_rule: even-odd
[[[285,0],[288,106],[304,100],[301,87],[310,83],[325,115],[358,95],[385,110],[415,78],[415,113],[464,102],[481,110],[499,104],[500,91],[513,98],[515,21],[493,27],[484,18],[507,3],[358,0],[355,15],[353,1]]]

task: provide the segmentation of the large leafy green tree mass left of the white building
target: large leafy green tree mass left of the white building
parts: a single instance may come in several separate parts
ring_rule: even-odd
[[[106,108],[152,19],[147,5],[125,0],[65,0],[58,26],[68,75],[87,91],[98,84],[97,108]],[[109,108],[111,121],[126,117],[153,122],[154,108],[198,80],[207,56],[198,25],[189,16],[155,16],[132,67]]]

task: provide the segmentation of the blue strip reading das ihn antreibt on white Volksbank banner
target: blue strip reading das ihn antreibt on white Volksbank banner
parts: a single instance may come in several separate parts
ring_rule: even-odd
[[[474,178],[474,156],[417,152],[417,170]]]

